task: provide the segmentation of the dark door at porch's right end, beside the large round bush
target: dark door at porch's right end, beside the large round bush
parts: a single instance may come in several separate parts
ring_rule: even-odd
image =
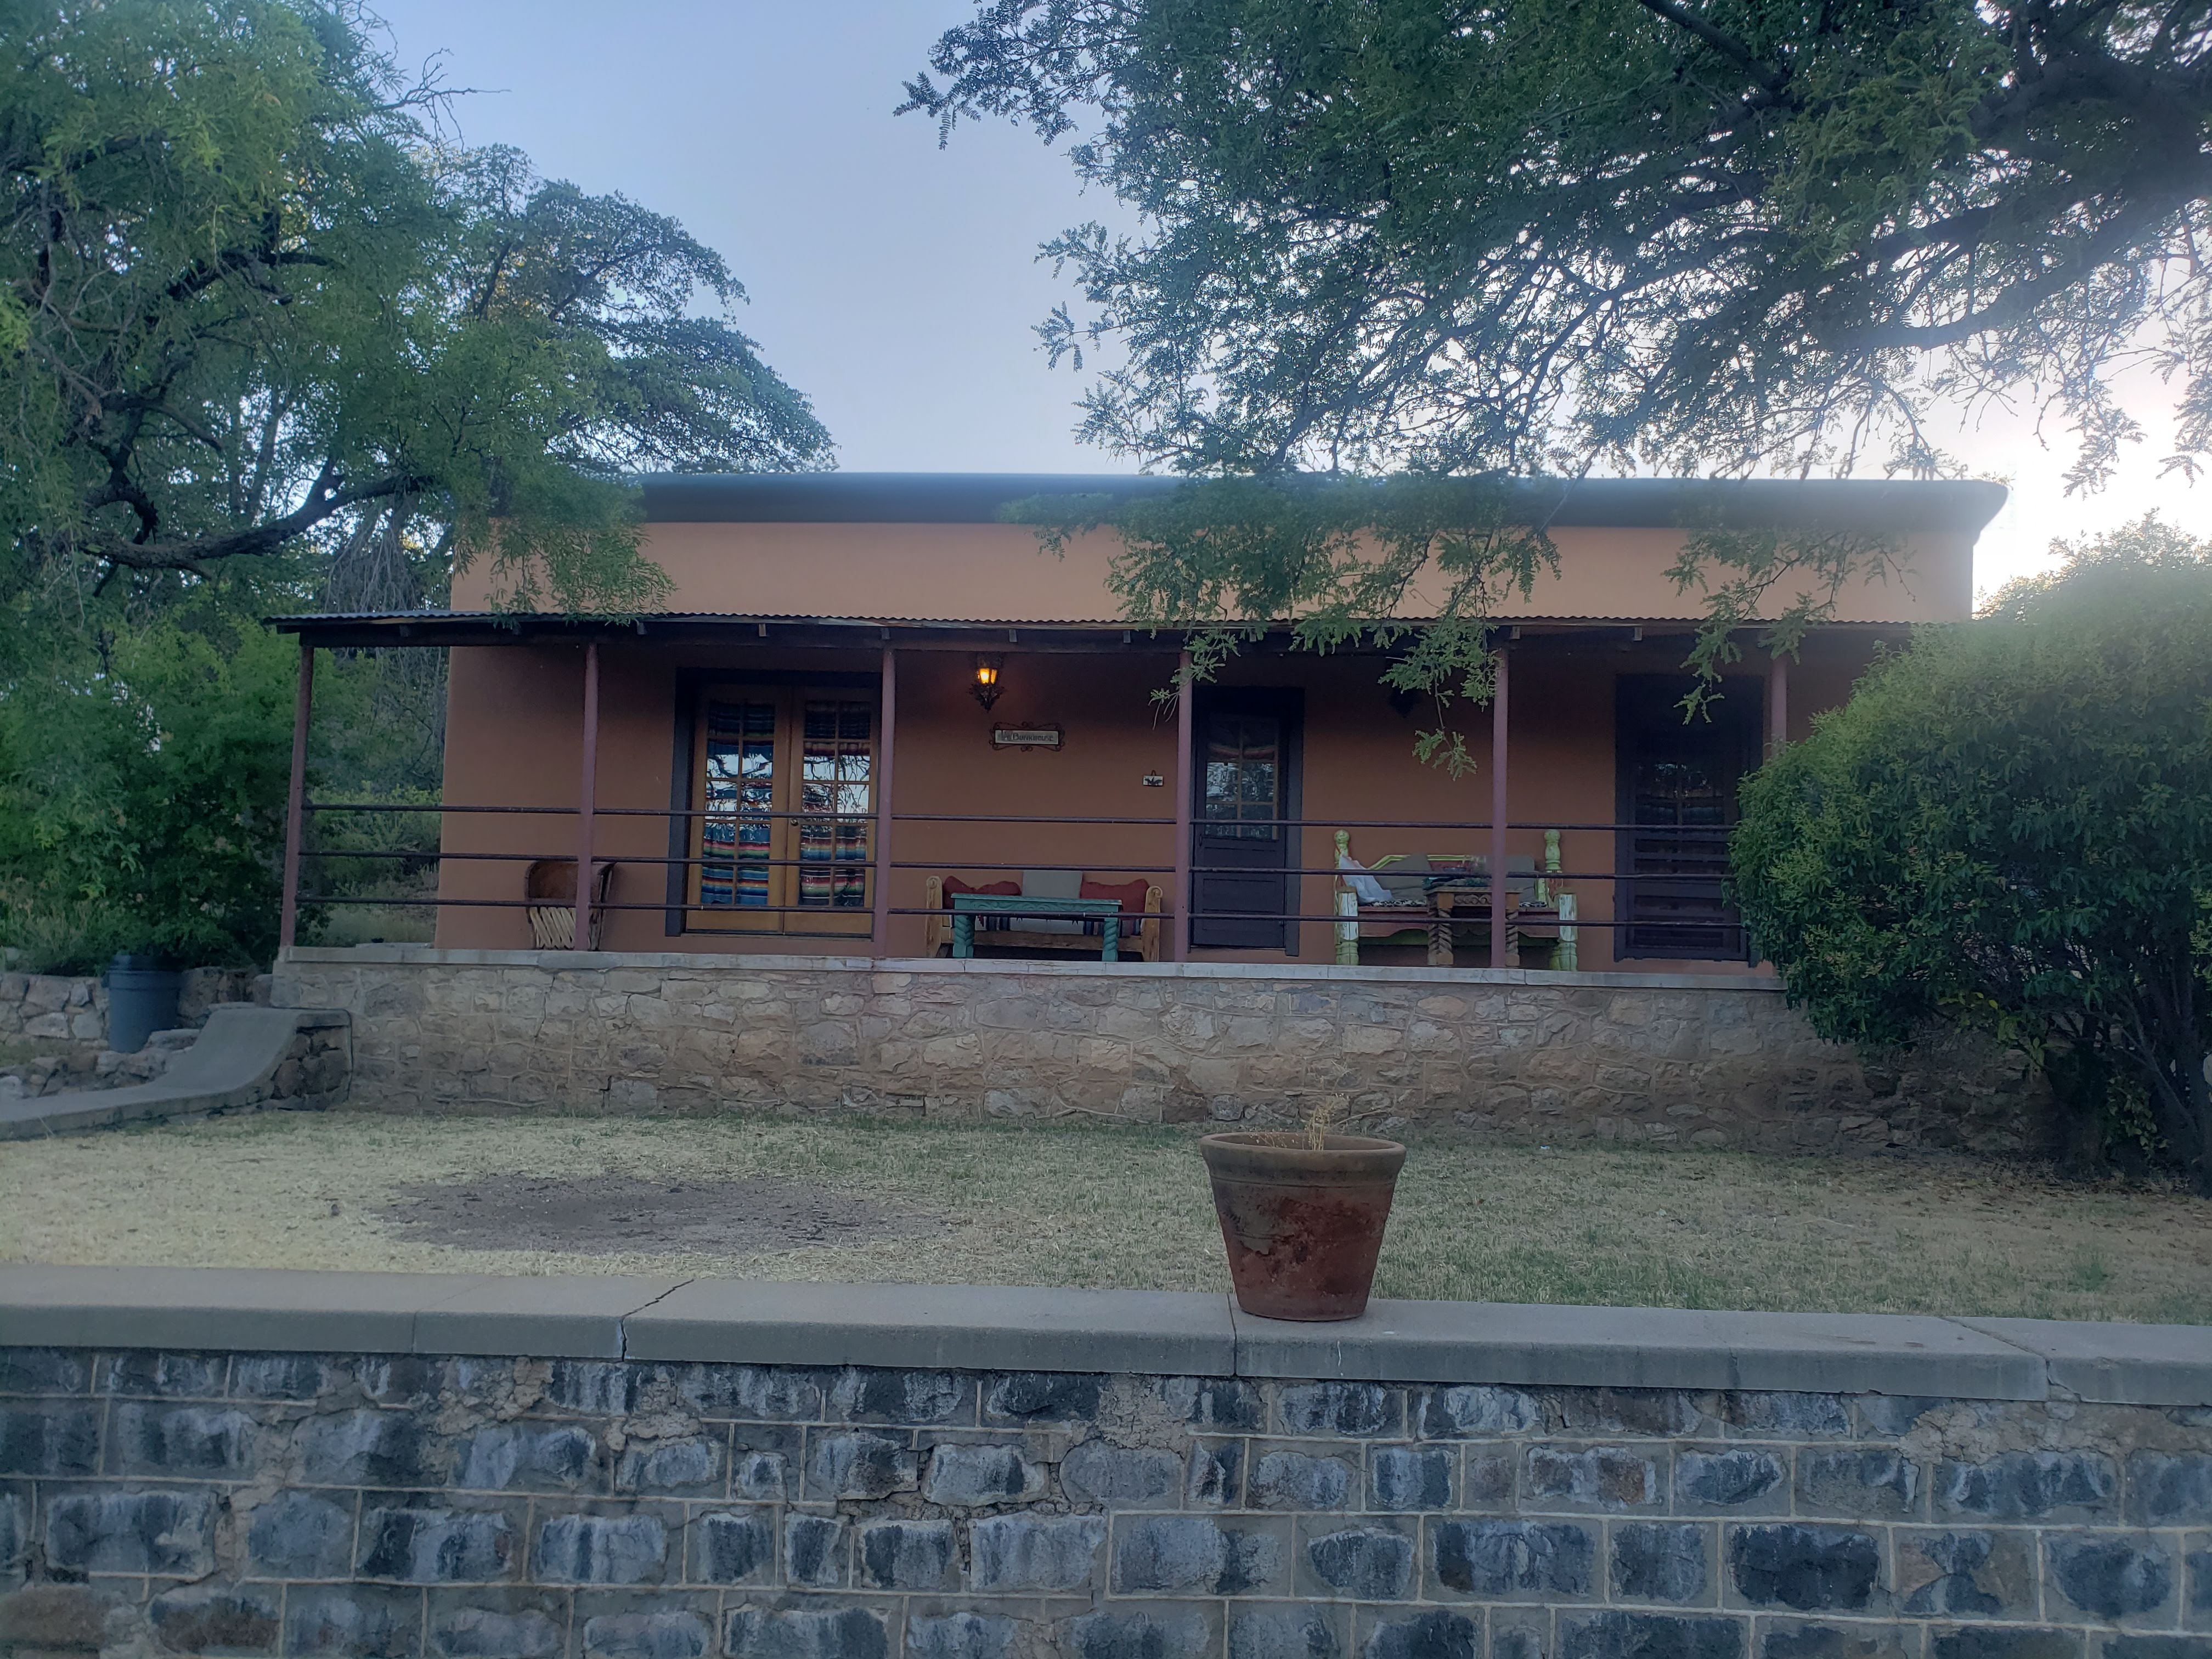
[[[1690,681],[1621,675],[1615,690],[1619,956],[1739,960],[1725,902],[1736,781],[1759,763],[1761,684],[1721,681],[1710,717],[1683,721]]]

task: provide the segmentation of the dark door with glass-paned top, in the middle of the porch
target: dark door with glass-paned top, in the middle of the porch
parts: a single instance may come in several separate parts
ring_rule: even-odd
[[[1190,823],[1190,942],[1290,947],[1296,905],[1290,867],[1298,816],[1298,692],[1199,692]]]

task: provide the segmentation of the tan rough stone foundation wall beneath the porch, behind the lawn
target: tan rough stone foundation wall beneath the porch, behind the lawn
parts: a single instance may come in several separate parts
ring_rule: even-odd
[[[380,1110],[1086,1113],[1812,1150],[2039,1141],[2017,1060],[1889,1066],[1772,980],[1438,969],[301,949]]]

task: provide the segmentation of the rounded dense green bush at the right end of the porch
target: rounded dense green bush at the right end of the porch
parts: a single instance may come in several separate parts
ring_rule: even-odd
[[[1920,633],[1745,781],[1732,860],[1823,1035],[1986,1031],[2073,1155],[2212,1192],[2212,544],[2143,520]]]

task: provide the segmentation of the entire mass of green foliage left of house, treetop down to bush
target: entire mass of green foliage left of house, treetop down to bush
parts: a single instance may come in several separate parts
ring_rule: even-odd
[[[265,962],[296,653],[259,617],[469,560],[648,602],[628,473],[830,465],[741,299],[677,221],[451,144],[354,0],[0,0],[0,942]],[[316,708],[319,790],[438,796],[442,653],[330,653]]]

